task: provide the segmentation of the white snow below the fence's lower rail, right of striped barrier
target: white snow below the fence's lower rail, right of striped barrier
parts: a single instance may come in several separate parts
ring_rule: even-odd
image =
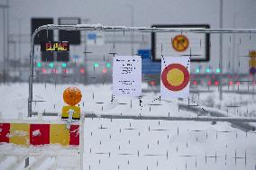
[[[129,130],[130,123],[133,130]],[[229,123],[88,120],[85,124],[86,169],[89,166],[90,169],[116,169],[118,166],[120,169],[146,169],[147,166],[149,169],[186,169],[186,164],[187,169],[251,169],[254,166],[254,134],[245,138],[244,132],[231,128]],[[100,129],[101,126],[105,129]],[[220,130],[232,132],[217,132]],[[237,157],[244,157],[247,150],[246,166],[244,159],[234,164],[235,150]],[[215,158],[210,158],[215,153],[216,162]]]

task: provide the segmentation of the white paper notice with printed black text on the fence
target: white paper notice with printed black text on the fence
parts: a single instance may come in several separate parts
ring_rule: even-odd
[[[113,94],[123,96],[142,94],[142,58],[140,56],[114,57]]]

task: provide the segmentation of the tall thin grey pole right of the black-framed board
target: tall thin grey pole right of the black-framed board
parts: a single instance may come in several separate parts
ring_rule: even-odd
[[[220,29],[223,29],[223,0],[220,0]],[[223,100],[223,82],[222,82],[222,76],[223,76],[223,34],[220,33],[220,77],[219,77],[219,83],[220,83],[220,100]]]

